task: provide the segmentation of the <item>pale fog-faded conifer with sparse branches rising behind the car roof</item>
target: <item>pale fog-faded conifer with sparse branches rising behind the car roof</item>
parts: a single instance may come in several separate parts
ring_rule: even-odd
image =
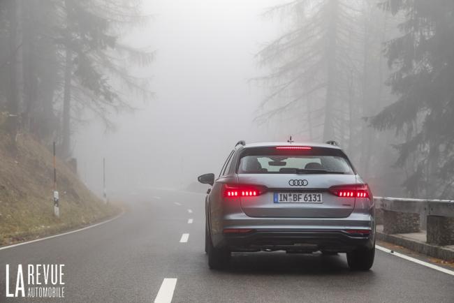
[[[359,68],[356,7],[344,0],[296,0],[273,10],[290,15],[291,28],[258,53],[272,68],[260,78],[272,84],[272,94],[258,120],[292,110],[306,117],[312,140],[343,141],[346,116],[357,103],[356,80],[351,82]]]

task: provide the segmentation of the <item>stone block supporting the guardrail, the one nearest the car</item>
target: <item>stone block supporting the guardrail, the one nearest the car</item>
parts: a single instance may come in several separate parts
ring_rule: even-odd
[[[386,234],[418,232],[419,222],[419,214],[383,209],[383,232]]]

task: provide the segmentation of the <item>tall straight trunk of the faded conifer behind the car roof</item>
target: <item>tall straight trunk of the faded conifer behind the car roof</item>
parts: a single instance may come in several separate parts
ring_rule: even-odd
[[[330,24],[328,25],[328,44],[327,47],[327,85],[325,100],[325,121],[323,124],[323,140],[334,140],[334,106],[336,89],[336,48],[337,48],[337,10],[338,0],[329,1],[330,5]]]

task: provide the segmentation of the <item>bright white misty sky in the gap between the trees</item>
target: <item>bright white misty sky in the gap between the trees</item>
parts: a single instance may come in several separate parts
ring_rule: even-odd
[[[103,156],[108,191],[181,188],[205,172],[219,173],[237,140],[285,139],[252,121],[266,91],[248,83],[264,72],[254,54],[280,30],[279,19],[262,14],[282,1],[144,2],[154,20],[127,40],[157,51],[140,71],[152,75],[156,98],[133,100],[141,110],[115,117],[115,132],[90,121],[75,134],[80,177],[98,194]]]

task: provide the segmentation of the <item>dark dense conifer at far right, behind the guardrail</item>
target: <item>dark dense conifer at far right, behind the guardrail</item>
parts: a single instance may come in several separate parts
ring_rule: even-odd
[[[395,165],[411,165],[404,186],[418,197],[454,193],[454,2],[388,0],[384,10],[404,14],[402,35],[386,47],[388,83],[397,101],[377,114],[372,125],[395,129]]]

